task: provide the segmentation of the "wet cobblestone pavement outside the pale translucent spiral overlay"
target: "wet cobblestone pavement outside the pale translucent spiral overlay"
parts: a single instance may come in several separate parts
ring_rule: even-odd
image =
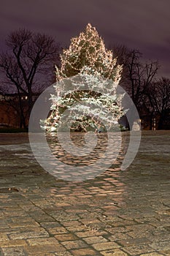
[[[120,156],[100,176],[74,182],[46,173],[27,135],[1,134],[0,255],[170,255],[169,139],[143,132],[128,170]]]

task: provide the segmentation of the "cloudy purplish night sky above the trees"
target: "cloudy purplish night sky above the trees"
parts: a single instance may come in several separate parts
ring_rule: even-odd
[[[170,78],[169,0],[0,0],[0,47],[19,28],[52,35],[61,45],[88,23],[109,45],[126,45],[158,60],[159,76]]]

